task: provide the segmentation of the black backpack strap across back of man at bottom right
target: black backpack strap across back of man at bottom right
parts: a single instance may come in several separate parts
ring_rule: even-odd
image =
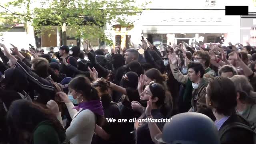
[[[224,126],[222,132],[220,133],[220,139],[222,138],[222,136],[223,136],[228,130],[230,130],[230,129],[232,129],[232,128],[242,128],[242,129],[244,129],[244,130],[248,130],[248,131],[252,132],[252,133],[253,133],[253,141],[254,141],[253,143],[256,144],[256,132],[254,132],[254,129],[255,129],[255,128],[254,128],[253,126],[250,127],[250,126],[248,126],[248,125],[246,125],[246,124],[243,124],[243,123],[241,123],[241,122],[233,122],[233,123],[231,123],[231,124],[228,124],[228,125]]]

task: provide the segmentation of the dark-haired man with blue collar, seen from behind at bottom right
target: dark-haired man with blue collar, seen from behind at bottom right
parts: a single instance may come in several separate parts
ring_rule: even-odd
[[[216,118],[221,144],[253,144],[254,131],[242,116],[236,114],[238,93],[232,80],[217,76],[204,91],[207,107]]]

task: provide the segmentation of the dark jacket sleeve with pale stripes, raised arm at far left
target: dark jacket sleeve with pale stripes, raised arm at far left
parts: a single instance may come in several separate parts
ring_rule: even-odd
[[[21,68],[21,70],[25,72],[30,86],[29,89],[38,92],[39,95],[36,99],[37,102],[46,104],[49,100],[54,99],[54,86],[50,80],[41,78],[36,73],[32,72],[32,70],[20,60],[17,61],[15,66]]]

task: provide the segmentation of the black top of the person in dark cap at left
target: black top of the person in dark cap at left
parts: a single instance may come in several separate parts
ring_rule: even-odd
[[[68,64],[71,64],[72,66],[75,66],[75,67],[77,66],[76,59],[73,56],[66,57],[66,61],[68,62]],[[69,70],[68,67],[63,63],[60,64],[60,73],[66,74],[67,77],[71,77],[71,78],[74,75],[74,72]]]

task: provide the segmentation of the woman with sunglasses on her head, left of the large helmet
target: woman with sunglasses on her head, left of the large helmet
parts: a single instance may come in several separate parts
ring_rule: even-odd
[[[152,137],[154,134],[149,130],[148,120],[156,120],[154,122],[160,130],[162,130],[164,123],[168,121],[169,117],[167,115],[170,109],[164,103],[165,93],[161,84],[152,81],[140,94],[141,100],[152,100],[152,110],[149,114],[143,112],[134,124],[136,144],[154,144],[155,140]]]

